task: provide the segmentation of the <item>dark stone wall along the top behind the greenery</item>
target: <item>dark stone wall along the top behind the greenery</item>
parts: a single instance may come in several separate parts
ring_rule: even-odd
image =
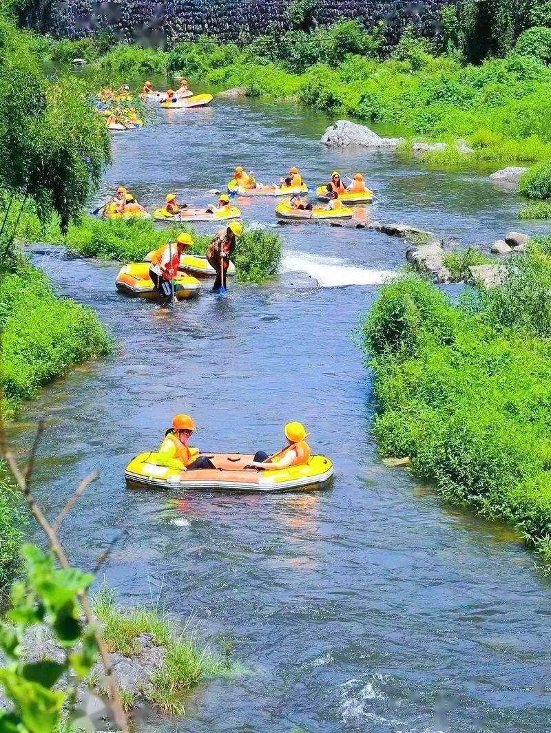
[[[370,28],[384,21],[387,43],[393,44],[408,23],[423,35],[434,34],[438,10],[450,1],[318,0],[315,15],[321,25],[356,18]],[[289,0],[52,0],[45,12],[40,0],[40,12],[31,12],[27,22],[57,37],[80,38],[106,29],[116,40],[145,39],[156,45],[203,34],[234,41],[255,37],[268,27],[284,33],[288,4]]]

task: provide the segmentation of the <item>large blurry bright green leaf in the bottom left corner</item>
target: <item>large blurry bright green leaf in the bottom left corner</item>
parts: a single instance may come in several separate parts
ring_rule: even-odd
[[[31,733],[51,733],[59,721],[65,695],[37,682],[27,682],[15,672],[0,669],[0,682]]]

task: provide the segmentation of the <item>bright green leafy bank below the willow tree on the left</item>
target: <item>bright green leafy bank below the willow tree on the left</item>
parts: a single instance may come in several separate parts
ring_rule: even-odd
[[[109,353],[111,342],[92,309],[59,298],[26,259],[0,281],[4,407],[12,413],[67,369]]]

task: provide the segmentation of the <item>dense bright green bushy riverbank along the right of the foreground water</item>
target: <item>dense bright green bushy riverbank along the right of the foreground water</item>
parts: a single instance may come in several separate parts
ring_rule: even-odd
[[[446,501],[504,519],[551,561],[551,237],[506,285],[459,305],[415,276],[382,287],[362,325],[384,456],[412,459]]]

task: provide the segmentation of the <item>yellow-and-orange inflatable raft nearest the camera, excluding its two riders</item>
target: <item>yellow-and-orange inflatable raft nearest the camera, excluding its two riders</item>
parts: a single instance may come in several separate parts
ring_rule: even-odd
[[[253,456],[241,453],[207,454],[216,468],[178,471],[159,465],[157,454],[140,453],[126,466],[128,487],[147,489],[189,489],[274,493],[317,489],[333,475],[333,464],[324,456],[313,456],[307,465],[258,471],[245,468]]]

